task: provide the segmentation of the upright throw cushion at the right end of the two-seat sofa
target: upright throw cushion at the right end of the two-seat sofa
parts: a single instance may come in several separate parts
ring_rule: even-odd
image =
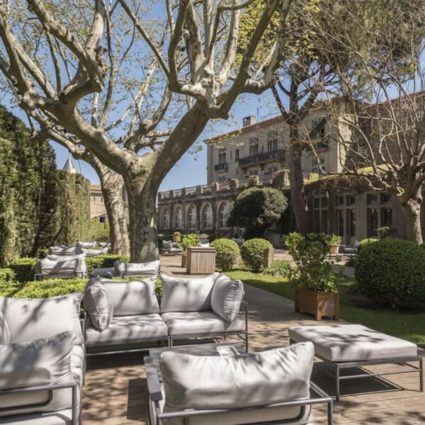
[[[227,322],[233,322],[239,313],[243,297],[243,283],[240,280],[232,280],[221,274],[217,277],[212,287],[212,311],[222,317],[222,319],[227,320]]]

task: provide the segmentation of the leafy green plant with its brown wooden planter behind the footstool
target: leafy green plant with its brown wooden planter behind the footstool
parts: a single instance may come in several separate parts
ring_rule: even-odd
[[[290,273],[295,285],[295,312],[314,314],[316,320],[322,316],[339,319],[339,292],[331,264],[326,260],[329,254],[327,234],[291,233],[285,237],[295,261],[296,268]]]

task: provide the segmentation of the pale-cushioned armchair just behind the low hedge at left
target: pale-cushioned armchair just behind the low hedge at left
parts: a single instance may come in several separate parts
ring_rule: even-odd
[[[86,254],[48,255],[35,263],[35,279],[85,278],[86,275]]]

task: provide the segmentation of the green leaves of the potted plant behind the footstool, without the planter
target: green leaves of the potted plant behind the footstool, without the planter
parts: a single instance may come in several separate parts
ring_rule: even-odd
[[[336,293],[336,278],[331,264],[325,261],[329,254],[331,237],[324,233],[300,234],[285,237],[285,244],[297,268],[291,273],[293,284],[324,293]]]

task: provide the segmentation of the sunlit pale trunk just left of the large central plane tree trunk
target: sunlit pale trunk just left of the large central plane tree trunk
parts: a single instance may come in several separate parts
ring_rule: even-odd
[[[101,177],[102,195],[105,202],[109,223],[109,242],[113,254],[130,254],[127,218],[123,203],[124,180],[120,174],[111,171],[99,174]]]

